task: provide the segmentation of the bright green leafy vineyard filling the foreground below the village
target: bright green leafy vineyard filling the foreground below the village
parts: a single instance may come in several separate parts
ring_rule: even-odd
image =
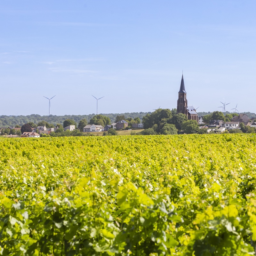
[[[0,255],[255,255],[255,135],[0,138],[0,152]]]

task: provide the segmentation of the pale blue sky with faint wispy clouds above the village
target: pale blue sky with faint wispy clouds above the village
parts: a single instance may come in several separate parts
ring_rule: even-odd
[[[256,112],[256,1],[0,1],[0,115]]]

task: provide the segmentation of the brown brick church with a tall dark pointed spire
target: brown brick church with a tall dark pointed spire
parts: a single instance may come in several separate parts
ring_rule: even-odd
[[[196,113],[196,109],[193,106],[188,106],[187,92],[185,90],[183,74],[180,83],[179,99],[177,101],[177,114],[178,113],[182,113],[188,116],[188,120],[196,120],[198,124],[198,115]]]

